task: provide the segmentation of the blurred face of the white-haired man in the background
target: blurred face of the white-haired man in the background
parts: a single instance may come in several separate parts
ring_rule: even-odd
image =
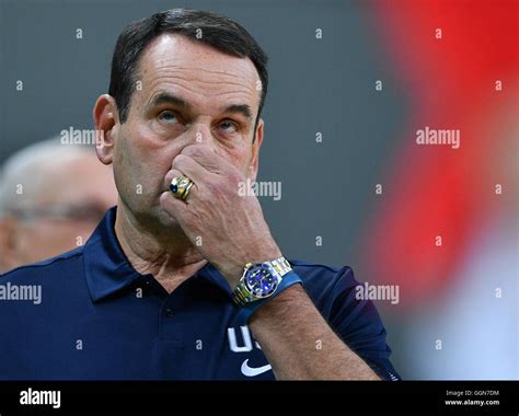
[[[46,180],[27,207],[31,218],[0,220],[0,271],[84,244],[117,201],[112,169],[91,153],[48,162],[37,174]]]

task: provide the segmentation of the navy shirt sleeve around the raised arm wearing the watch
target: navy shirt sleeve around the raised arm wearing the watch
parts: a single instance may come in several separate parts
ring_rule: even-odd
[[[330,325],[380,378],[401,380],[390,361],[391,348],[385,342],[387,332],[373,302],[356,298],[359,284],[350,267],[341,268],[337,275],[330,297]]]

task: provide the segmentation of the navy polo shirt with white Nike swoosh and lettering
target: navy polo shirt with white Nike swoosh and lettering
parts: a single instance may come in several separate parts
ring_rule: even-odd
[[[207,264],[168,293],[132,268],[115,216],[116,207],[84,246],[0,276],[0,379],[273,380],[218,270]],[[289,262],[342,339],[383,379],[397,379],[351,269]]]

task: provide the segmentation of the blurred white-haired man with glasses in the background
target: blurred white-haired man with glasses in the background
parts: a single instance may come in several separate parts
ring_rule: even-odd
[[[0,174],[0,271],[82,245],[116,201],[90,147],[54,138],[20,150]]]

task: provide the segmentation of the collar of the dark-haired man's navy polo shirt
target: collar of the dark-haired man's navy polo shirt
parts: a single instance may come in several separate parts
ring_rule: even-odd
[[[117,240],[114,229],[116,215],[117,207],[108,209],[84,246],[84,274],[94,302],[130,286],[142,277],[131,266]],[[231,294],[229,284],[211,264],[207,263],[193,278],[198,276]]]

